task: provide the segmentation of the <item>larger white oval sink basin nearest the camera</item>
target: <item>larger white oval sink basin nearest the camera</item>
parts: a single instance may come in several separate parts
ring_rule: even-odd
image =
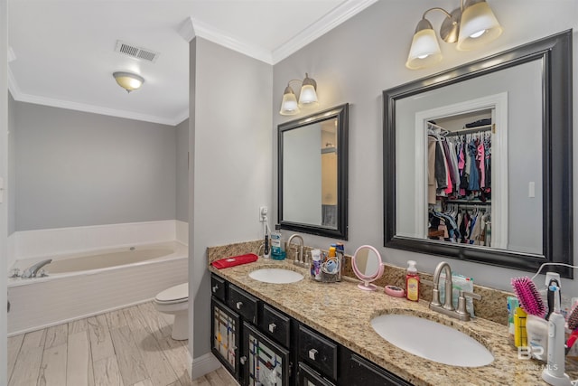
[[[494,361],[488,349],[471,336],[421,317],[379,315],[371,326],[390,344],[433,362],[479,367]]]

